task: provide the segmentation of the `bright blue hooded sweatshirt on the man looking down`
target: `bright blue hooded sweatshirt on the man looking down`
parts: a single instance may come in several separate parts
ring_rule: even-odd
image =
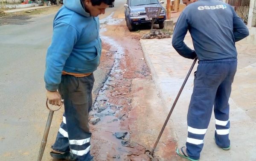
[[[61,72],[91,73],[101,56],[99,17],[84,10],[80,0],[64,0],[53,22],[52,43],[46,56],[46,89],[56,91]]]

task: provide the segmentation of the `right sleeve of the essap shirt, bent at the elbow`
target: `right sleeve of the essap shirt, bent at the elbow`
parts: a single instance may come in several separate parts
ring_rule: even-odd
[[[233,11],[233,34],[235,37],[235,42],[240,41],[249,35],[249,30],[244,24],[243,20],[237,16],[234,8]]]

